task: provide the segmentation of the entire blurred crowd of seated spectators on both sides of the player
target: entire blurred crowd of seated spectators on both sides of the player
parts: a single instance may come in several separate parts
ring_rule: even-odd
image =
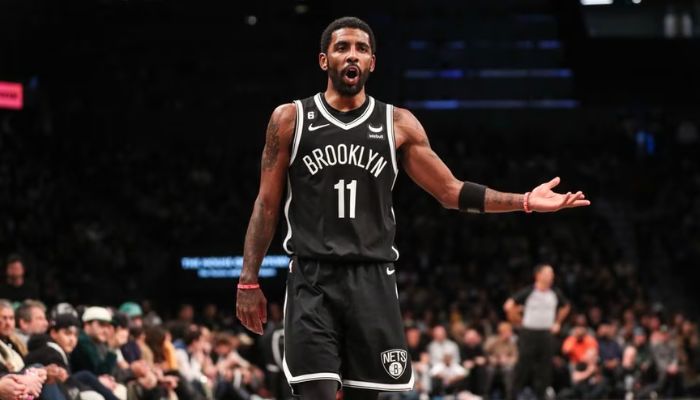
[[[36,285],[25,280],[17,256],[7,259],[0,294],[0,400],[291,397],[277,303],[260,337],[212,304],[201,310],[183,304],[170,320],[134,301],[47,308],[26,298]],[[552,399],[700,395],[696,321],[642,302],[619,314],[576,304],[573,310],[555,334]],[[516,398],[519,329],[503,313],[474,317],[453,305],[444,316],[432,308],[420,315],[406,308],[403,315],[415,388],[383,397]],[[520,393],[532,396],[529,389]]]

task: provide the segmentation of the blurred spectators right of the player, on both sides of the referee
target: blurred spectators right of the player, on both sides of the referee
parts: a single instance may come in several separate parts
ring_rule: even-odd
[[[416,398],[514,398],[518,330],[506,321],[475,326],[407,322]],[[556,335],[549,398],[649,399],[700,394],[697,323],[683,314],[627,309],[576,312]],[[534,398],[526,389],[520,396]]]

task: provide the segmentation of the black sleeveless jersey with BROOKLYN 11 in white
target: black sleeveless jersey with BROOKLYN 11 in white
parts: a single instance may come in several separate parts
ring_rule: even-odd
[[[364,113],[344,123],[321,96],[294,101],[284,249],[302,258],[395,261],[393,107],[368,96]]]

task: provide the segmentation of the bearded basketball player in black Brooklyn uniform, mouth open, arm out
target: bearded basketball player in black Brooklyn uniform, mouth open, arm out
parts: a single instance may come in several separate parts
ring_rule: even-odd
[[[266,300],[258,270],[277,226],[282,192],[291,256],[283,369],[306,399],[347,399],[407,391],[406,351],[393,262],[392,187],[401,163],[443,207],[473,212],[557,211],[586,206],[583,193],[552,191],[559,178],[525,194],[457,180],[408,110],[365,93],[375,40],[363,21],[333,21],[318,62],[325,92],[283,104],[267,127],[258,197],[245,238],[236,315],[262,334]]]

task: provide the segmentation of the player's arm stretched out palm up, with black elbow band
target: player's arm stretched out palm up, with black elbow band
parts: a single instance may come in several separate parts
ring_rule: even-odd
[[[526,194],[504,193],[471,183],[466,184],[466,187],[472,190],[463,191],[465,183],[455,178],[452,171],[435,154],[430,147],[425,129],[410,111],[398,107],[394,109],[394,129],[397,148],[401,149],[404,170],[414,182],[435,197],[445,208],[461,208],[466,211],[466,208],[472,209],[473,203],[479,203],[473,209],[488,213],[551,212],[590,205],[590,201],[586,200],[585,195],[580,191],[566,194],[552,191],[560,182],[558,177],[537,186]],[[475,195],[479,198],[474,199]]]

